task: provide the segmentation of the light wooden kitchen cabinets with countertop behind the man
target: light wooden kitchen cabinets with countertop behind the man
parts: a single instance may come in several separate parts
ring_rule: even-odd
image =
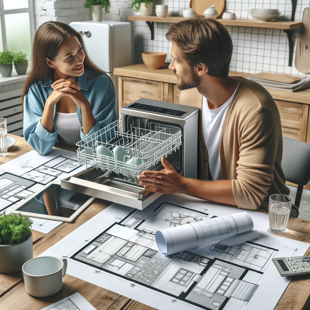
[[[166,102],[179,103],[180,90],[176,87],[173,71],[165,63],[161,69],[148,69],[145,64],[134,64],[115,68],[118,75],[119,108],[140,98],[148,98]],[[230,75],[249,77],[251,74],[242,72]],[[268,89],[275,100],[285,137],[310,143],[310,89],[289,92]],[[304,188],[310,189],[310,183]]]

